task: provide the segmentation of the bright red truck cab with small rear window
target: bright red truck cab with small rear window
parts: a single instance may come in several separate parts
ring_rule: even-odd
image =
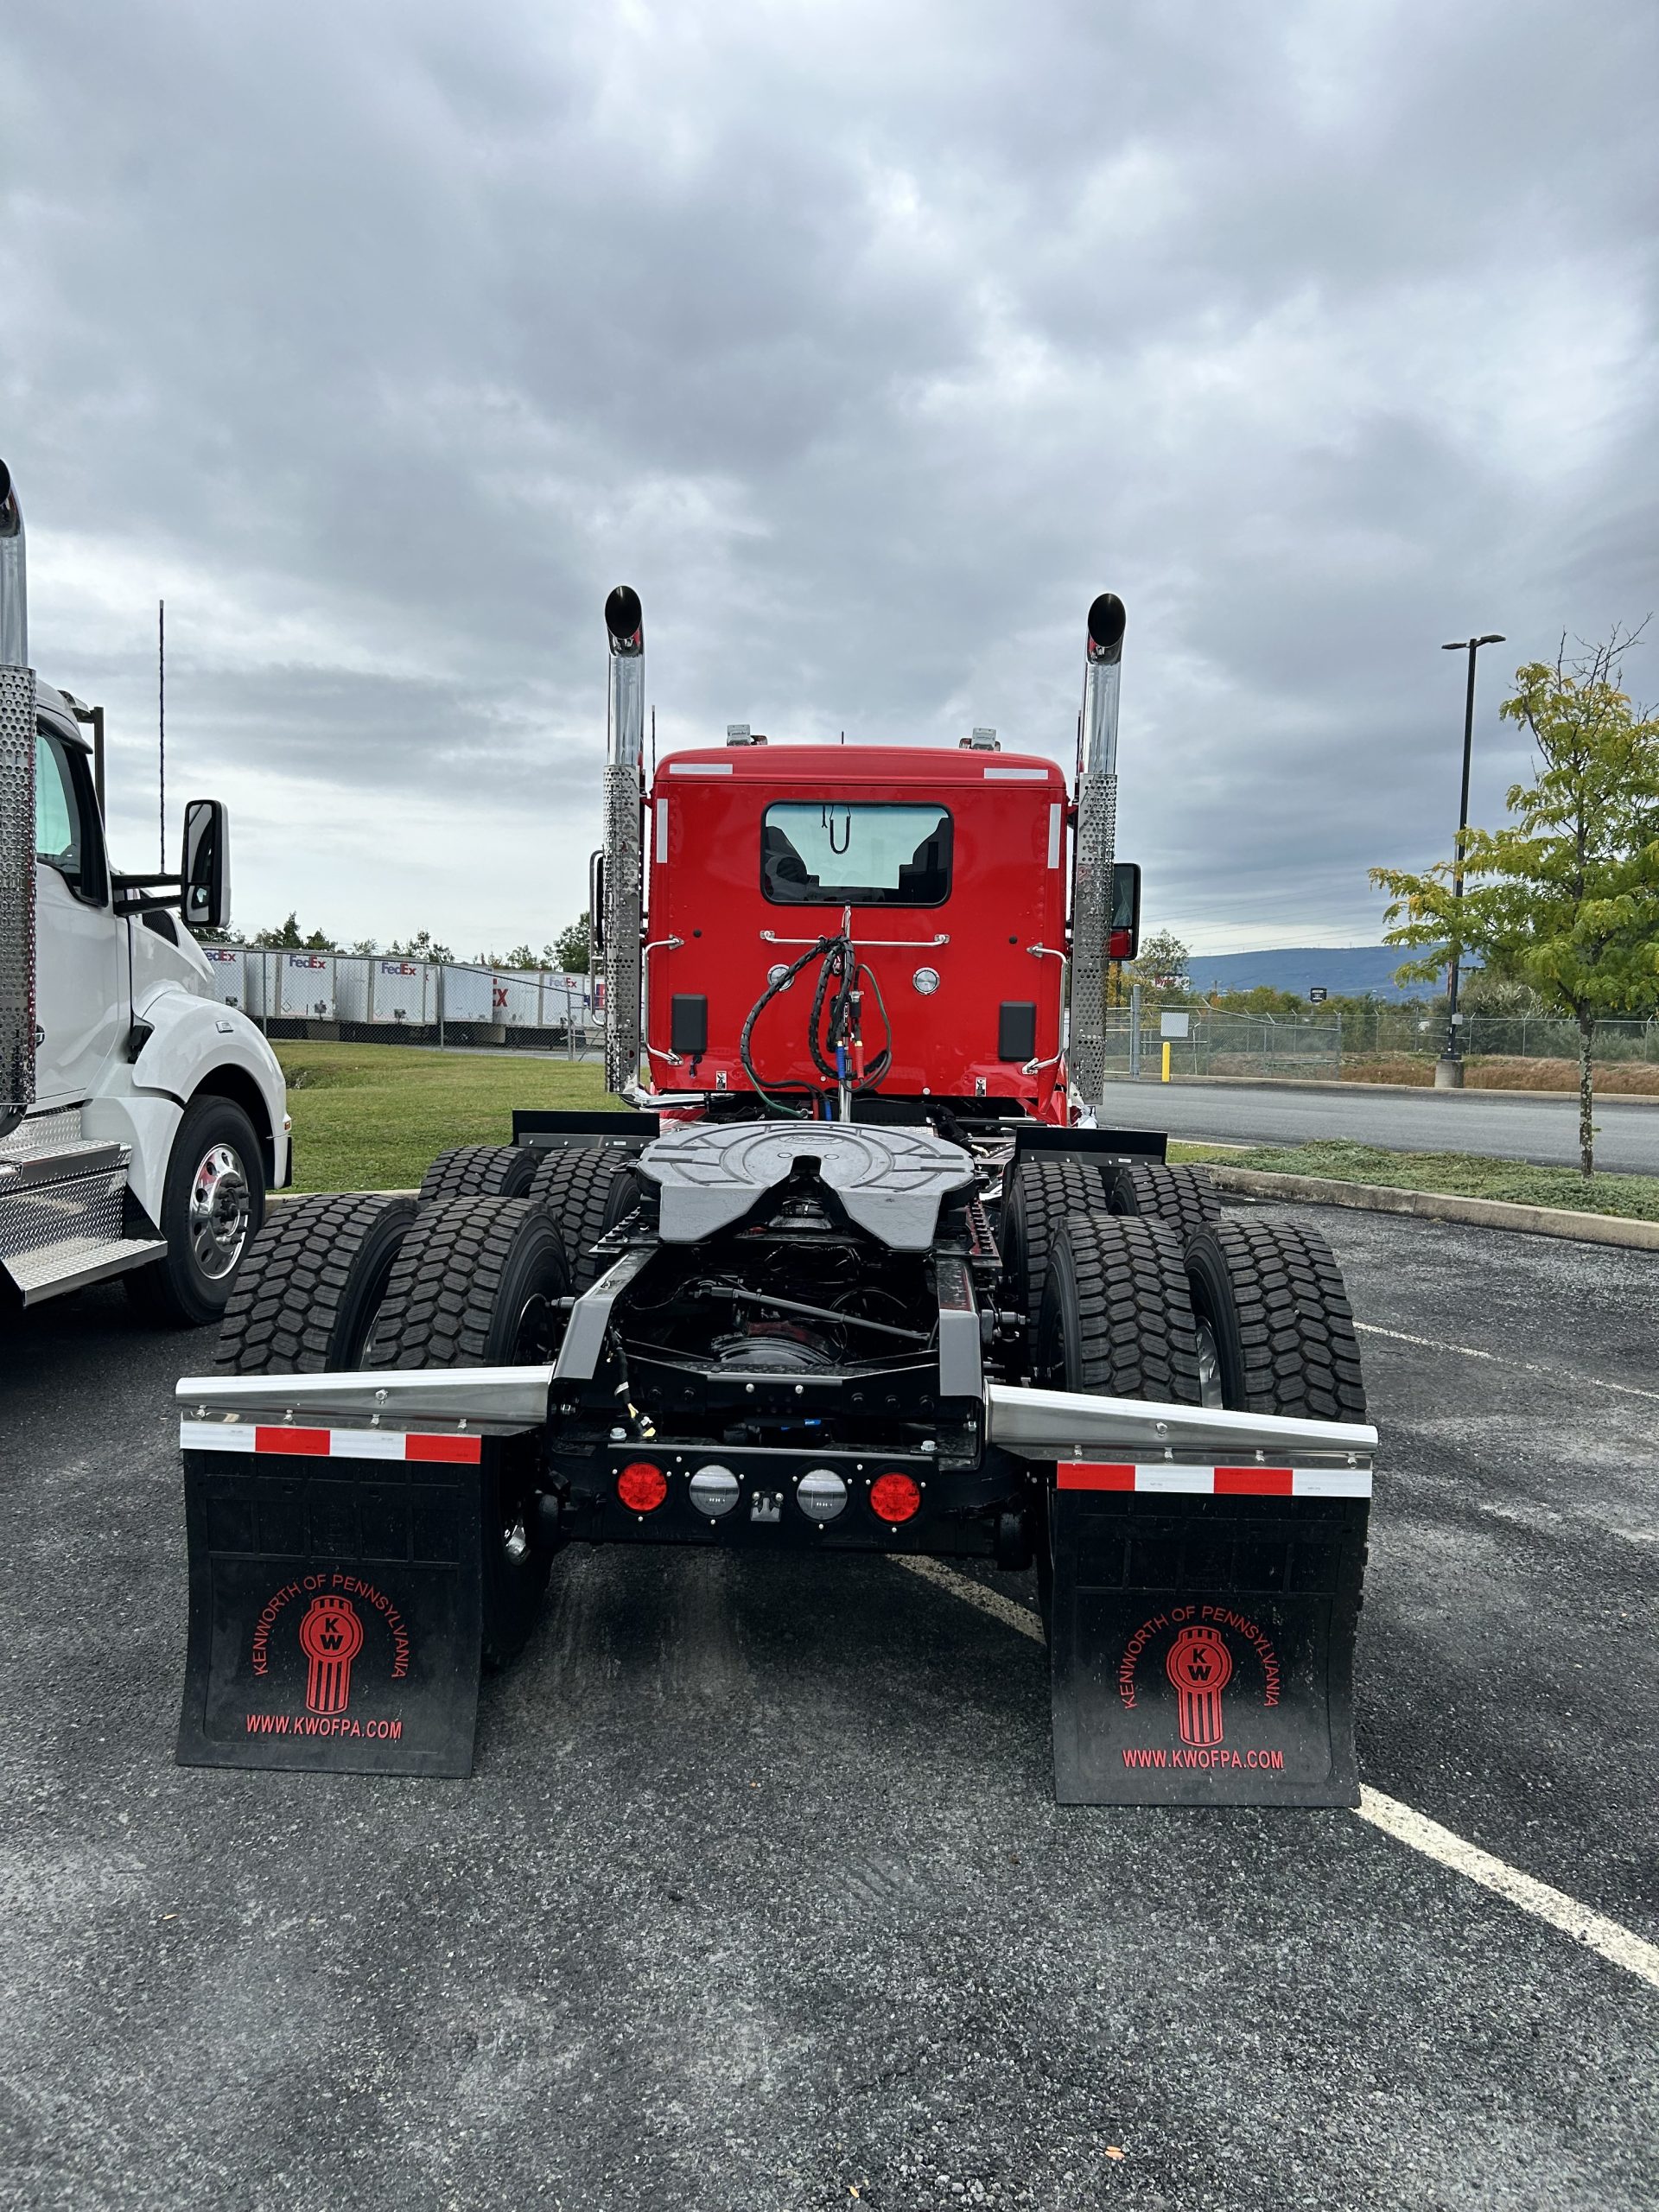
[[[929,1097],[1064,1119],[1066,781],[1055,761],[989,739],[942,752],[734,732],[723,748],[661,761],[648,838],[655,1088],[714,1104],[745,1095],[750,1108],[757,1091],[796,1108],[816,1099],[807,956],[845,933],[867,1108]]]

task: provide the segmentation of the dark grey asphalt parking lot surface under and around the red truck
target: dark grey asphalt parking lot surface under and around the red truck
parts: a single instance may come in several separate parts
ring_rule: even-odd
[[[1363,1774],[1655,1942],[1659,1254],[1316,1219]],[[1639,1971],[1354,1814],[1057,1809],[1040,1646],[880,1559],[568,1553],[469,1783],[175,1767],[208,1356],[0,1345],[0,2203],[1659,2199]]]

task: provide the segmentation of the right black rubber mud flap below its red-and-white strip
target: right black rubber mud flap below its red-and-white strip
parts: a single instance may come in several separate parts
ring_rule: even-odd
[[[1055,1489],[1048,1504],[1062,1805],[1358,1805],[1369,1498]]]

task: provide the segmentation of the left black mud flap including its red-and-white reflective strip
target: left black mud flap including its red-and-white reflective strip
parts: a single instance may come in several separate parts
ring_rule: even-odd
[[[243,1433],[257,1451],[184,1453],[179,1765],[469,1774],[478,1460],[330,1455],[327,1429]]]

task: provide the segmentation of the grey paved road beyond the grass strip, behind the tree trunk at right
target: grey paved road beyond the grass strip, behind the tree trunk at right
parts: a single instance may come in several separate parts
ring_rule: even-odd
[[[1659,1106],[1599,1099],[1595,1159],[1617,1175],[1659,1175]],[[1349,1137],[1405,1152],[1493,1152],[1575,1168],[1577,1099],[1526,1091],[1310,1091],[1296,1084],[1106,1084],[1102,1124],[1166,1128],[1223,1144]]]

